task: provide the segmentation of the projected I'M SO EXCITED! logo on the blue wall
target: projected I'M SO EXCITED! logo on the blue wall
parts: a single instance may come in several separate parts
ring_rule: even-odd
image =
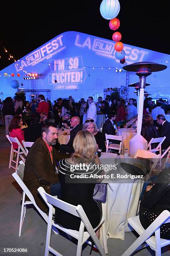
[[[83,84],[86,80],[82,56],[50,60],[50,68],[51,73],[48,74],[48,84],[55,84],[54,90],[78,89],[76,84]],[[74,85],[73,88],[71,85]]]

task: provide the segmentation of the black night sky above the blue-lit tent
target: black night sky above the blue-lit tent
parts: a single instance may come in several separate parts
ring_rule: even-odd
[[[60,33],[78,31],[112,40],[109,20],[100,14],[101,0],[1,3],[0,43],[16,60]],[[119,0],[117,18],[122,42],[170,54],[167,1]],[[0,70],[12,64],[0,45]],[[152,60],[150,60],[152,61]]]

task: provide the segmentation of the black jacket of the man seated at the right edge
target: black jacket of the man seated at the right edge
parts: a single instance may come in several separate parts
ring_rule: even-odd
[[[162,149],[168,148],[170,146],[170,123],[165,121],[163,125],[160,125],[158,129],[160,137],[164,137],[165,141],[162,143]]]

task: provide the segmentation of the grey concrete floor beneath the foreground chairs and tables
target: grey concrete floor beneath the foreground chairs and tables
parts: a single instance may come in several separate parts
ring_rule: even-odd
[[[5,129],[0,128],[0,255],[10,256],[11,254],[43,256],[46,244],[47,224],[32,208],[26,211],[21,236],[18,236],[20,221],[20,197],[21,189],[12,177],[14,169],[8,169],[10,156],[10,143],[5,137]],[[125,233],[125,240],[109,238],[108,256],[121,256],[124,251],[135,241],[137,236],[134,232]],[[51,246],[64,256],[76,255],[75,241],[69,241],[64,235],[51,235]],[[4,248],[27,248],[27,253],[4,253]],[[89,255],[90,246],[83,247],[82,256]],[[52,255],[50,253],[50,255]],[[92,256],[99,253],[92,252]],[[150,256],[155,252],[150,248],[138,251],[134,255]],[[162,255],[170,255],[170,246],[162,249]]]

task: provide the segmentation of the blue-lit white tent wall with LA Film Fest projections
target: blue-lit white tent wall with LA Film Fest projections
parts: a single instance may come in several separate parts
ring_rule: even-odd
[[[21,88],[31,89],[30,79],[23,80],[23,70],[41,74],[36,79],[36,89],[51,89],[52,101],[58,97],[68,98],[69,95],[76,101],[88,96],[94,96],[96,100],[98,96],[103,96],[104,88],[126,86],[126,72],[116,72],[123,65],[114,56],[114,44],[114,41],[75,31],[62,33],[21,58],[18,63],[22,70],[17,63],[1,70],[0,91],[3,91],[3,99],[15,95],[17,89],[10,86],[13,79],[23,83]],[[169,100],[170,66],[165,61],[170,61],[170,55],[127,44],[124,44],[124,51],[126,64],[152,61],[167,65],[164,71],[153,72],[147,77],[147,83],[151,85],[146,87],[146,91],[154,98]],[[5,72],[8,77],[3,77]],[[11,73],[15,76],[9,77]],[[129,73],[129,84],[132,82],[139,82],[139,77],[134,72]],[[46,97],[46,93],[43,94]],[[129,97],[136,97],[134,88],[129,88]]]

